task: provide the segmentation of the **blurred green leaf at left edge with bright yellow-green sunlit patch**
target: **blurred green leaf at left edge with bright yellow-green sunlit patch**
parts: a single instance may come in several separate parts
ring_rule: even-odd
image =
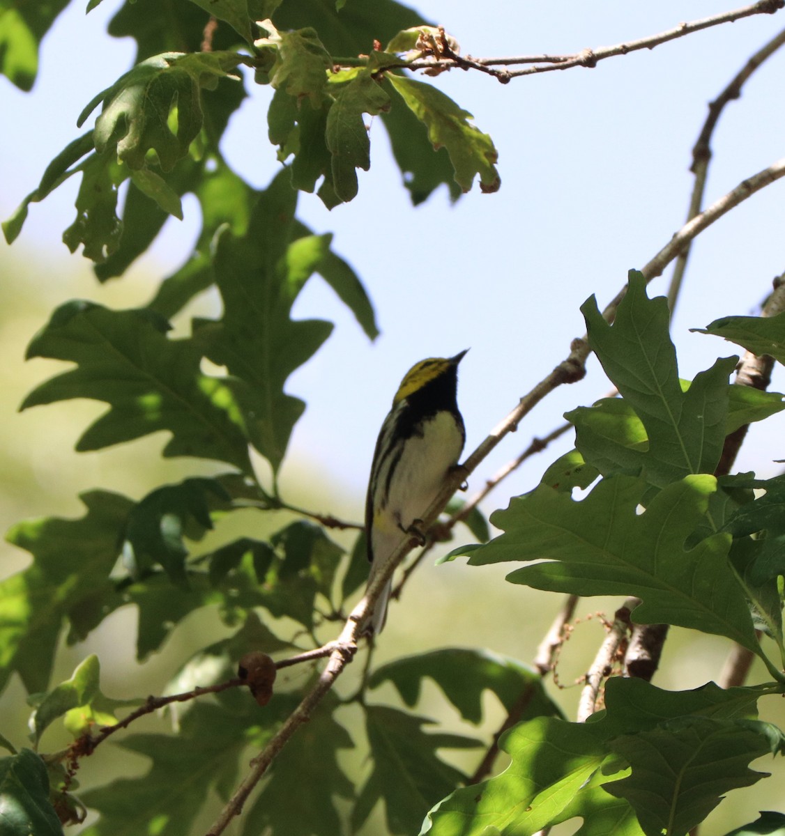
[[[111,609],[110,572],[133,503],[104,491],[80,499],[85,517],[27,520],[8,531],[33,564],[0,583],[0,686],[17,670],[29,692],[46,691],[64,619],[73,643]]]

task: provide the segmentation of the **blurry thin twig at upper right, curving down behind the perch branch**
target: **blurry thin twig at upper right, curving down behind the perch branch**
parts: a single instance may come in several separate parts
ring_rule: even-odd
[[[747,82],[752,74],[760,67],[766,59],[770,58],[777,52],[782,44],[785,43],[785,29],[775,35],[767,44],[760,48],[757,53],[747,61],[741,70],[736,73],[736,76],[731,80],[731,83],[722,90],[721,94],[709,104],[709,114],[700,129],[698,139],[692,149],[692,165],[690,171],[695,175],[695,183],[692,186],[692,195],[690,196],[690,209],[687,212],[687,220],[691,221],[698,212],[700,206],[703,205],[703,195],[705,191],[706,175],[709,170],[709,162],[711,161],[711,136],[714,133],[717,122],[720,119],[722,111],[726,104],[734,99],[741,98],[741,88]],[[668,307],[671,314],[676,306],[676,298],[678,298],[681,283],[684,278],[685,269],[687,267],[687,259],[690,257],[690,244],[679,253],[674,265],[673,277],[670,279],[670,288],[668,288]]]

